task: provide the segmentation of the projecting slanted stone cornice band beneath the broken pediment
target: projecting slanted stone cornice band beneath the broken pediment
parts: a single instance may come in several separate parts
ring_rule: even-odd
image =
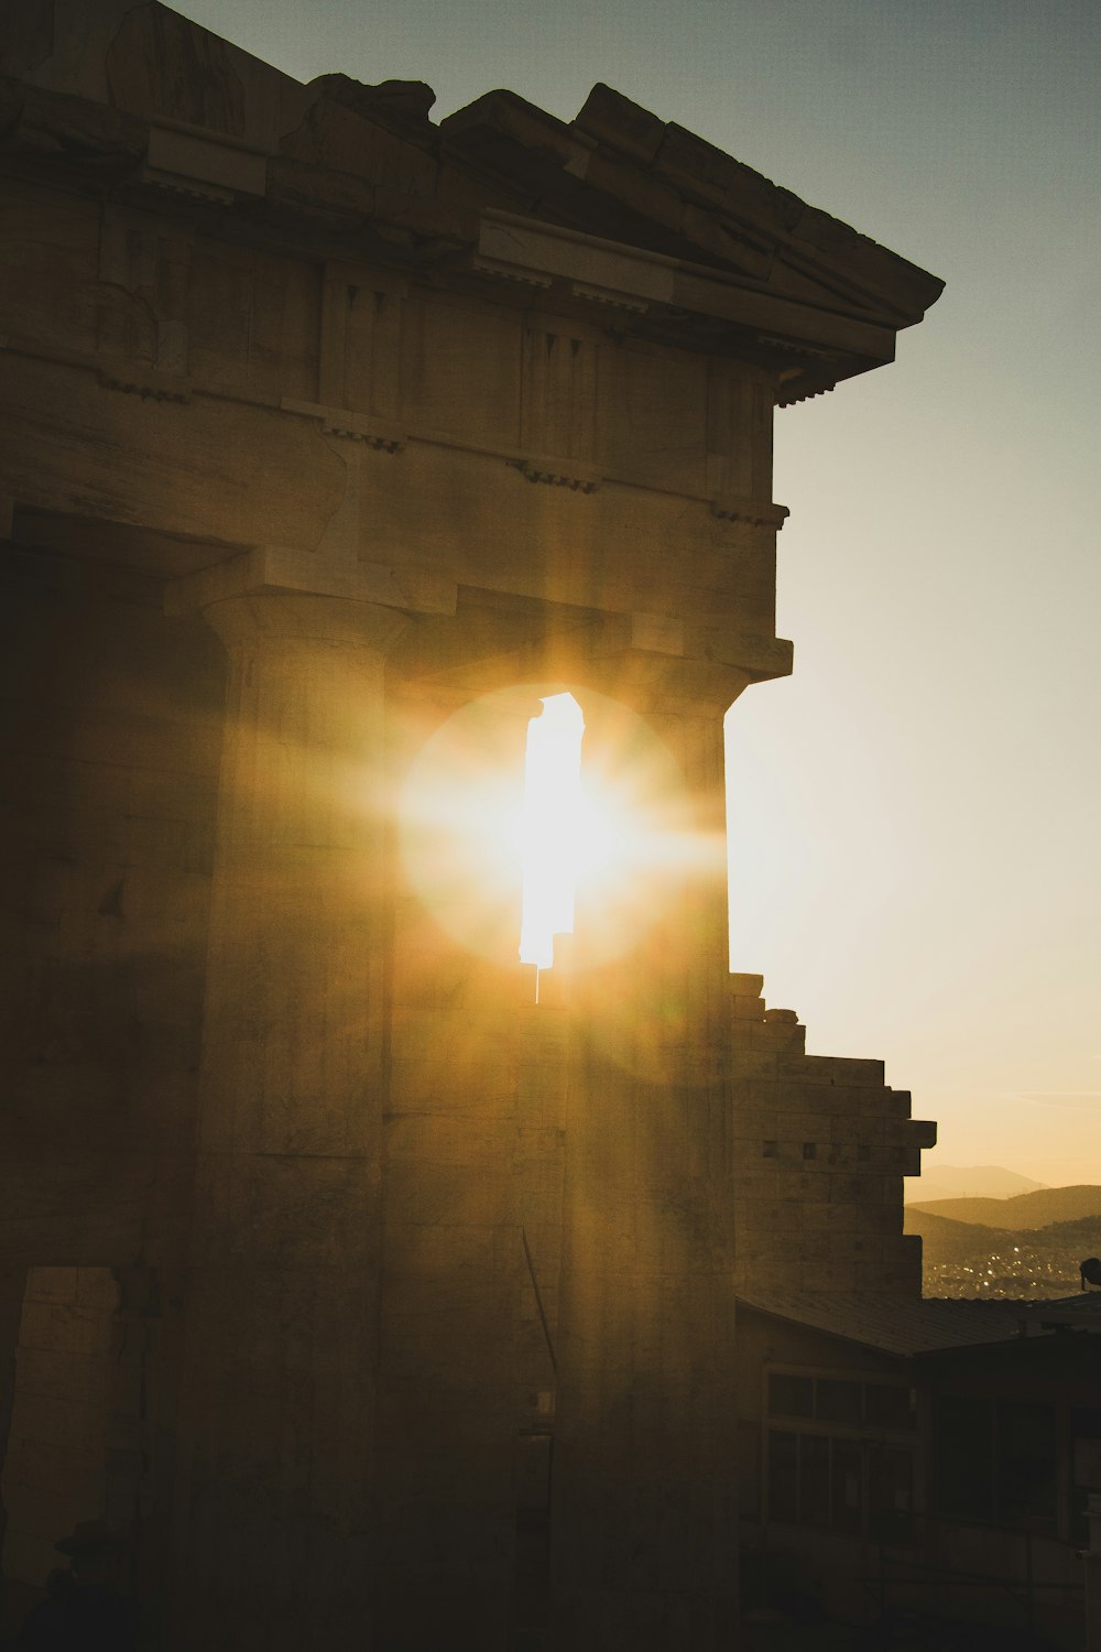
[[[588,311],[604,325],[639,330],[672,347],[763,365],[782,360],[807,380],[806,387],[792,383],[786,400],[893,358],[896,324],[870,320],[825,289],[820,304],[781,294],[769,286],[768,259],[756,274],[753,259],[746,264],[733,253],[726,268],[718,261],[693,263],[591,235],[548,215],[457,206],[419,183],[403,193],[365,175],[196,129],[170,114],[145,121],[13,81],[0,86],[0,101],[12,111],[0,149],[21,165],[45,169],[43,175],[54,182],[79,177],[83,188],[94,182],[120,202],[183,218],[196,215],[198,225],[231,240],[282,246],[292,236],[299,254],[366,256],[456,289],[499,281],[515,291],[518,302],[538,292],[543,306]],[[342,116],[358,119],[345,107]],[[527,127],[538,127],[540,116],[528,109]],[[451,121],[444,129],[459,135]],[[558,164],[583,187],[593,140],[566,127],[560,137]],[[418,155],[424,159],[419,149]],[[436,190],[441,187],[437,178]],[[758,240],[761,233],[758,226]],[[847,233],[862,241],[855,231]],[[926,284],[931,281],[926,278]]]

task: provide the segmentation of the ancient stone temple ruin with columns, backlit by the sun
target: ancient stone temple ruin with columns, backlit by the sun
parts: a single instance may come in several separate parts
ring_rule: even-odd
[[[723,714],[773,410],[941,282],[606,86],[3,23],[8,1609],[106,1517],[155,1645],[728,1645],[735,1289],[919,1292],[933,1137],[728,973]],[[535,1004],[560,691],[711,852]]]

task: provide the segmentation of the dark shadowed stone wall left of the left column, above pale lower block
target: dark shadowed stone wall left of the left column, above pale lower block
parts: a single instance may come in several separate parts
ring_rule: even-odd
[[[3,583],[5,1251],[178,1262],[221,662],[125,570],[12,550]]]

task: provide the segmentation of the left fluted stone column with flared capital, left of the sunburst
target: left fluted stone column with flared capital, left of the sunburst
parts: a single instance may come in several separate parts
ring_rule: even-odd
[[[370,1647],[386,834],[399,613],[206,608],[229,657],[175,1645]]]

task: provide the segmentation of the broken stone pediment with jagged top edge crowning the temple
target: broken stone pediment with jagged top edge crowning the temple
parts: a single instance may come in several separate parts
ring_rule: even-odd
[[[764,367],[782,401],[890,360],[943,287],[602,84],[569,122],[492,91],[432,124],[419,81],[304,86],[160,3],[59,0],[51,38],[35,0],[10,10],[5,147],[97,169],[132,200],[168,190],[248,233],[314,236],[320,258],[338,236],[335,256],[602,306]]]

